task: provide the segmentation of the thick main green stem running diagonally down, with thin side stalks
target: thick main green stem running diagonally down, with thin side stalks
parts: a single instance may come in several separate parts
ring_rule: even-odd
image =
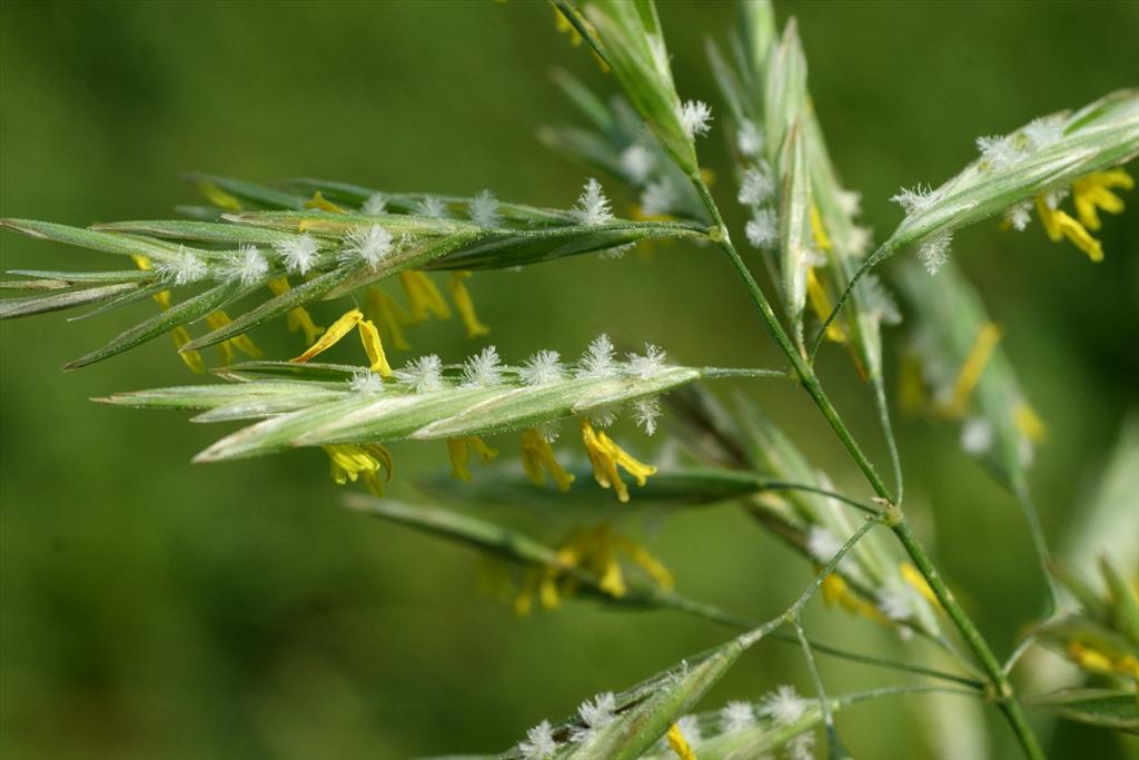
[[[843,446],[846,448],[846,451],[854,460],[854,464],[858,465],[859,469],[862,471],[862,474],[866,476],[867,481],[874,489],[875,493],[877,493],[879,498],[885,499],[886,502],[890,505],[896,504],[894,498],[891,496],[890,490],[886,488],[886,484],[883,482],[882,477],[874,468],[874,465],[867,458],[866,453],[862,452],[862,449],[854,440],[854,436],[851,434],[850,430],[846,427],[842,418],[838,416],[838,411],[834,408],[834,404],[830,403],[830,400],[827,398],[826,393],[823,393],[819,379],[818,377],[816,377],[814,370],[812,369],[811,365],[808,363],[804,357],[802,357],[800,352],[795,349],[795,346],[792,344],[792,341],[788,337],[787,332],[784,329],[782,325],[776,318],[775,312],[771,310],[771,304],[768,303],[767,297],[763,295],[763,292],[760,289],[760,286],[755,283],[755,279],[752,277],[752,273],[747,269],[747,265],[744,263],[744,260],[736,251],[736,247],[731,244],[731,238],[728,235],[728,228],[724,226],[723,218],[720,215],[720,210],[716,206],[715,199],[713,199],[711,191],[704,183],[704,180],[699,177],[698,173],[693,174],[689,179],[691,180],[702,201],[704,202],[704,205],[707,207],[708,213],[712,215],[713,221],[715,222],[715,227],[710,231],[708,237],[723,250],[724,254],[728,256],[728,260],[736,268],[736,271],[739,273],[739,277],[743,280],[744,286],[747,289],[747,293],[752,299],[752,303],[755,305],[756,311],[759,311],[760,313],[760,319],[763,322],[763,326],[767,328],[768,333],[775,340],[776,344],[780,348],[784,354],[786,354],[787,360],[792,365],[792,368],[798,375],[800,382],[803,384],[803,387],[806,390],[808,394],[814,401],[816,406],[819,407],[819,410],[822,412],[822,416],[826,418],[830,427],[835,431],[835,434],[838,436],[838,440],[842,441]],[[820,335],[825,333],[826,326],[838,313],[839,309],[842,309],[842,305],[843,303],[845,303],[846,299],[850,297],[850,294],[853,292],[854,286],[858,284],[862,275],[869,271],[875,263],[877,263],[886,255],[888,255],[888,252],[890,248],[884,245],[882,248],[875,252],[875,254],[871,255],[863,264],[863,267],[855,273],[854,278],[852,278],[851,283],[847,285],[846,291],[838,300],[838,303],[835,304],[835,309],[831,311],[829,318],[823,324],[823,328],[822,332],[820,332]],[[820,341],[816,341],[816,345],[812,349],[812,354],[813,351],[818,350],[819,343]],[[926,582],[929,583],[929,588],[933,589],[933,593],[937,597],[937,600],[941,603],[942,608],[944,608],[945,612],[949,614],[950,619],[953,621],[953,624],[961,632],[961,636],[965,638],[969,648],[973,651],[974,656],[976,656],[977,661],[984,669],[985,675],[989,678],[990,685],[992,686],[992,689],[995,692],[993,698],[997,702],[998,706],[1000,708],[1001,712],[1005,714],[1005,718],[1008,721],[1009,726],[1013,728],[1013,733],[1016,735],[1017,741],[1021,743],[1025,757],[1030,758],[1031,760],[1042,760],[1044,758],[1043,751],[1040,749],[1040,744],[1036,742],[1035,735],[1033,735],[1032,729],[1029,727],[1029,722],[1027,719],[1025,718],[1023,709],[1021,708],[1021,703],[1016,701],[1013,686],[1009,683],[1003,670],[1001,669],[1000,662],[998,662],[992,649],[989,647],[989,643],[985,641],[983,636],[981,636],[981,632],[977,630],[976,626],[974,626],[973,621],[960,607],[960,605],[957,604],[957,600],[953,598],[952,593],[945,587],[945,583],[942,581],[941,575],[937,573],[936,567],[933,566],[933,563],[929,559],[929,555],[921,546],[917,536],[910,529],[909,523],[907,522],[901,509],[896,506],[893,506],[891,508],[890,526],[891,530],[894,531],[894,534],[898,536],[899,540],[906,547],[906,550],[909,553],[910,558],[913,559],[913,563],[917,566],[918,571],[926,579]],[[811,588],[808,589],[808,593],[804,595],[803,599],[801,599],[802,602],[805,602],[806,598],[810,598],[810,595],[813,594],[818,585],[822,582],[823,577],[825,573],[816,579],[816,582],[812,585]],[[797,608],[793,610],[797,612]],[[768,632],[765,630],[761,632],[761,630],[755,631],[755,634],[762,636],[763,634]]]

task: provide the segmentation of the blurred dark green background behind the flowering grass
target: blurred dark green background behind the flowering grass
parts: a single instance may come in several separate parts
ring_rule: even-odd
[[[1136,3],[777,9],[780,22],[800,19],[833,154],[846,183],[863,191],[879,236],[900,218],[886,198],[954,173],[975,155],[974,137],[1134,85],[1139,74]],[[716,104],[703,46],[706,35],[722,39],[734,8],[666,2],[661,11],[681,93]],[[585,170],[534,139],[541,124],[575,119],[548,70],[615,87],[555,33],[539,2],[6,1],[0,35],[0,213],[73,224],[169,215],[196,201],[178,180],[187,169],[456,195],[490,187],[506,199],[568,206]],[[713,131],[702,157],[722,171],[721,140]],[[730,188],[718,191],[735,214]],[[1133,193],[1128,202],[1137,203]],[[954,243],[1049,425],[1033,487],[1055,544],[1077,520],[1139,397],[1137,220],[1133,210],[1107,220],[1107,260],[1098,265],[1049,243],[1035,222],[1019,235],[984,223]],[[0,246],[5,269],[68,268],[99,255],[10,234]],[[472,291],[508,359],[538,348],[574,356],[607,330],[656,342],[682,362],[777,361],[711,250],[480,275]],[[323,324],[338,305],[318,308]],[[58,371],[149,309],[0,326],[5,758],[493,751],[543,717],[730,634],[588,603],[515,619],[480,591],[474,555],[339,508],[319,451],[191,466],[216,430],[88,401],[187,382],[167,340]],[[281,325],[255,337],[272,357],[298,349]],[[413,350],[451,361],[480,348],[454,324],[413,328],[411,338]],[[849,362],[830,351],[822,365],[884,461]],[[738,389],[837,483],[862,492],[805,397],[775,383]],[[915,518],[1007,653],[1042,605],[1018,508],[953,434],[906,419],[899,433]],[[659,446],[631,431],[622,440],[640,453]],[[442,446],[400,443],[393,453],[392,491],[401,497],[415,498],[416,474],[445,466]],[[530,525],[555,540],[566,520]],[[629,528],[675,571],[681,590],[753,618],[784,608],[809,579],[805,563],[730,506]],[[829,641],[898,646],[892,634],[839,612],[813,611],[809,626]],[[825,673],[833,692],[904,680],[835,661]],[[810,693],[798,652],[772,643],[737,665],[708,704],[755,698],[780,683]],[[875,703],[839,725],[860,758],[932,757],[918,720],[928,709]],[[992,716],[990,727],[991,757],[1011,757],[1005,727]],[[1114,737],[1071,725],[1049,741],[1060,758],[1125,753]]]

